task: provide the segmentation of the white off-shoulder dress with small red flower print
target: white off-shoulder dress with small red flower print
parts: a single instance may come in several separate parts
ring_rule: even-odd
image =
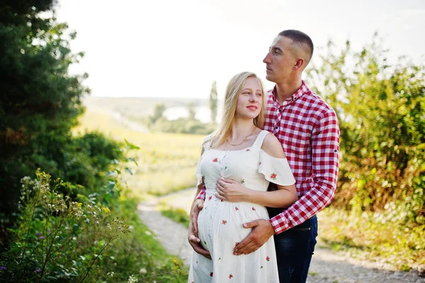
[[[193,252],[189,283],[207,282],[279,282],[276,250],[271,237],[261,248],[249,255],[233,255],[234,246],[251,231],[242,224],[268,219],[264,206],[248,202],[221,201],[214,195],[217,179],[225,177],[249,189],[266,191],[269,182],[295,184],[288,161],[275,158],[261,150],[268,131],[261,131],[254,145],[243,150],[215,150],[210,136],[204,140],[196,177],[206,187],[203,209],[198,216],[201,243],[212,260]]]

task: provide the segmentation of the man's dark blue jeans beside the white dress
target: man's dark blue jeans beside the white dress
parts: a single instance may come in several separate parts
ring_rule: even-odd
[[[317,216],[274,235],[280,283],[302,283],[307,280],[316,237]]]

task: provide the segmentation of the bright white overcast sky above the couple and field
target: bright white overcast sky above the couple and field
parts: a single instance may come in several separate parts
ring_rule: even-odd
[[[390,62],[425,62],[424,0],[59,0],[55,16],[77,31],[85,56],[70,72],[89,74],[92,96],[208,99],[217,81],[222,99],[243,71],[271,89],[262,60],[285,29],[310,35],[316,56],[329,39],[360,50],[378,32]]]

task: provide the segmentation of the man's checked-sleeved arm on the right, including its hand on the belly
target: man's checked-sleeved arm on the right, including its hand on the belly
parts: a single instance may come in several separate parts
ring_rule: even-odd
[[[331,203],[335,196],[339,170],[339,124],[334,111],[320,119],[312,133],[312,175],[314,186],[295,204],[277,216],[265,221],[259,219],[244,223],[253,228],[241,243],[234,247],[234,255],[249,254],[261,247],[273,233],[304,223]]]

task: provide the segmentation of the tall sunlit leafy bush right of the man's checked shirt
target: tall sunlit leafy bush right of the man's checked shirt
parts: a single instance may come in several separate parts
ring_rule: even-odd
[[[392,203],[404,221],[425,224],[425,67],[405,57],[390,65],[386,53],[378,35],[360,52],[329,41],[308,74],[339,116],[333,205],[361,213]]]

